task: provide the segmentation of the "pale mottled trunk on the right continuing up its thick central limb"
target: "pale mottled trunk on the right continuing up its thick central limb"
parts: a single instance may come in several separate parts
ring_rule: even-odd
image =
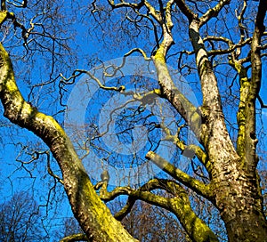
[[[257,164],[255,150],[248,156],[250,162],[247,161],[247,164],[255,165],[250,165],[250,169],[247,169],[248,166],[237,154],[225,125],[217,80],[199,35],[198,20],[192,20],[190,23],[190,39],[196,54],[202,86],[204,105],[201,110],[206,111],[200,142],[204,145],[213,165],[211,186],[214,206],[221,213],[230,242],[267,241],[263,197],[255,171]],[[252,129],[255,132],[254,125]],[[250,133],[247,135],[249,141],[254,139]],[[251,169],[252,166],[254,169]]]

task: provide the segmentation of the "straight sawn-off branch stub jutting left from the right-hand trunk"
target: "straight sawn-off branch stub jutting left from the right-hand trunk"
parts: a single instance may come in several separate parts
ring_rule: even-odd
[[[182,184],[189,187],[191,190],[195,190],[204,198],[212,197],[211,190],[208,185],[196,180],[189,174],[182,172],[180,169],[166,161],[163,157],[160,157],[156,153],[150,151],[147,153],[146,158],[151,160],[155,165],[158,165],[159,168],[171,175],[175,180],[182,182]]]

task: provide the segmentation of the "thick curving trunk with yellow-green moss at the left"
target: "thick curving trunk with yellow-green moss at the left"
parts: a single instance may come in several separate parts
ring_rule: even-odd
[[[69,137],[53,117],[24,101],[16,85],[12,62],[0,44],[0,98],[4,117],[36,133],[58,161],[73,214],[90,241],[137,241],[112,216],[97,196]]]

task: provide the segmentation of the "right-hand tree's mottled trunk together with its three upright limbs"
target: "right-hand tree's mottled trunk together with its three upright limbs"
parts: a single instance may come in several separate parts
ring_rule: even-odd
[[[172,43],[171,29],[166,31],[165,38],[153,57],[158,70],[158,83],[163,89],[166,99],[190,124],[191,129],[206,150],[208,162],[203,162],[203,164],[211,178],[208,188],[211,197],[208,199],[219,209],[226,225],[229,241],[266,241],[267,223],[263,213],[260,180],[255,169],[258,162],[255,153],[257,142],[255,138],[255,98],[261,82],[262,67],[259,46],[261,33],[263,34],[264,29],[263,20],[266,4],[263,6],[263,1],[261,1],[255,22],[255,34],[251,45],[251,82],[248,82],[247,76],[241,77],[243,85],[240,88],[241,101],[238,114],[239,139],[238,149],[235,149],[225,125],[214,69],[199,33],[201,26],[217,16],[223,6],[229,4],[230,1],[220,1],[201,18],[198,18],[198,15],[192,12],[184,1],[177,0],[175,2],[189,20],[189,36],[195,53],[203,94],[202,106],[197,109],[200,117],[195,114],[196,109],[190,102],[176,91],[166,69],[166,52]],[[239,74],[244,76],[244,71],[240,71]],[[190,119],[190,117],[195,118]],[[199,119],[202,121],[201,124],[198,123]],[[177,143],[180,149],[184,149],[184,146],[179,145],[179,141]],[[200,160],[204,161],[201,157]],[[160,166],[157,161],[155,163]],[[162,167],[164,166],[163,169],[167,173],[172,174],[172,171],[174,173],[171,165],[165,163],[160,162]],[[186,182],[184,174],[181,172],[175,173],[174,178],[184,184]],[[190,184],[187,183],[186,185],[190,187]],[[198,192],[195,186],[191,189]],[[201,192],[198,193],[201,194]],[[205,194],[202,193],[201,195],[205,197]]]

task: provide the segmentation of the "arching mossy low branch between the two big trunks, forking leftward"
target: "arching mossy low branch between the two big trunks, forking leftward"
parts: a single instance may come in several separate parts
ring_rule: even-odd
[[[174,197],[164,198],[150,192],[150,190],[155,189],[166,190]],[[134,200],[140,199],[150,203],[151,205],[160,206],[166,208],[166,210],[170,212],[173,212],[182,223],[183,228],[190,235],[190,238],[195,241],[218,241],[212,230],[206,226],[206,223],[200,220],[193,212],[190,207],[190,199],[187,192],[175,181],[153,179],[148,181],[138,190],[132,190],[130,188],[117,188],[111,192],[106,190],[106,194],[101,194],[101,198],[109,200],[122,194],[130,196],[130,198],[134,198]],[[130,208],[134,205],[134,200],[125,206],[119,214],[120,216],[129,213]],[[118,216],[118,218],[120,217]],[[198,231],[200,228],[201,232]],[[205,232],[203,232],[203,230],[205,230]]]

